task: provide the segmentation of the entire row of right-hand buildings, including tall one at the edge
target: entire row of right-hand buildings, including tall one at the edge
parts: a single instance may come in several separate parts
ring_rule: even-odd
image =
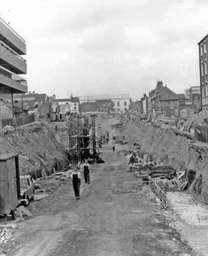
[[[198,43],[200,85],[176,94],[158,81],[156,88],[141,98],[143,116],[189,118],[193,113],[208,111],[208,35]]]

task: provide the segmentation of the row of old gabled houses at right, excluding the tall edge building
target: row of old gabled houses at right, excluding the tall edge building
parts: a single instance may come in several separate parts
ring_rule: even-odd
[[[184,93],[177,94],[158,81],[156,88],[141,98],[141,113],[153,119],[160,116],[168,118],[189,118],[201,109],[200,87],[192,86]]]

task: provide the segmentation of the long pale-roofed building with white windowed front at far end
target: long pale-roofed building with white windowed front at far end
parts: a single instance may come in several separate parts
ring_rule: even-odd
[[[129,110],[131,103],[131,98],[129,94],[101,94],[87,97],[80,97],[81,103],[83,102],[96,102],[98,100],[112,100],[113,102],[113,112],[124,113]]]

